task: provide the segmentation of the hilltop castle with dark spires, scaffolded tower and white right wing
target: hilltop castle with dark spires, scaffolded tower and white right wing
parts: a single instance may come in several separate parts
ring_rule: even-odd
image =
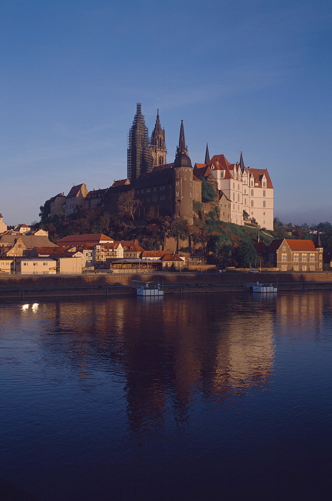
[[[242,152],[238,162],[229,163],[223,154],[209,156],[206,145],[204,163],[192,166],[181,121],[179,142],[172,163],[167,163],[165,130],[161,127],[159,110],[151,136],[145,125],[141,105],[128,133],[127,178],[113,182],[109,188],[88,191],[84,183],[73,186],[68,195],[59,193],[50,202],[50,217],[59,207],[65,216],[77,206],[102,205],[110,213],[117,212],[119,196],[134,192],[140,201],[137,218],[143,219],[151,208],[158,215],[193,222],[193,202],[202,203],[202,179],[213,186],[215,200],[203,203],[208,212],[217,207],[219,218],[243,225],[246,221],[273,229],[273,186],[267,169],[244,165]]]

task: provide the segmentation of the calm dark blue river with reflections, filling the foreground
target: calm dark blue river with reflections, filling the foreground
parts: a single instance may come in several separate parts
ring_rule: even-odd
[[[328,499],[329,292],[0,303],[1,475],[40,501]]]

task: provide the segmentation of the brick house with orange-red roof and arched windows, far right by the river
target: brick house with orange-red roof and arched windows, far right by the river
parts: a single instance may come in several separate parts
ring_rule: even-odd
[[[320,241],[315,245],[312,240],[279,238],[271,241],[266,256],[281,272],[321,272],[323,268]]]

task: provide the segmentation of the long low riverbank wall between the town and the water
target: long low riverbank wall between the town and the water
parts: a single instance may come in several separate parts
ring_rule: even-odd
[[[131,280],[159,282],[165,294],[241,292],[249,282],[278,291],[332,290],[332,273],[162,273],[153,275],[33,275],[0,277],[0,299],[134,295]]]

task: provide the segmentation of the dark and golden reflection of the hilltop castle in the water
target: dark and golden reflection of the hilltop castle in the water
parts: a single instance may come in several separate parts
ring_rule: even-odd
[[[197,398],[222,402],[267,384],[275,303],[243,311],[220,298],[49,301],[38,317],[46,334],[61,336],[61,356],[79,378],[97,370],[123,380],[132,429],[159,427],[169,416],[185,421]]]

